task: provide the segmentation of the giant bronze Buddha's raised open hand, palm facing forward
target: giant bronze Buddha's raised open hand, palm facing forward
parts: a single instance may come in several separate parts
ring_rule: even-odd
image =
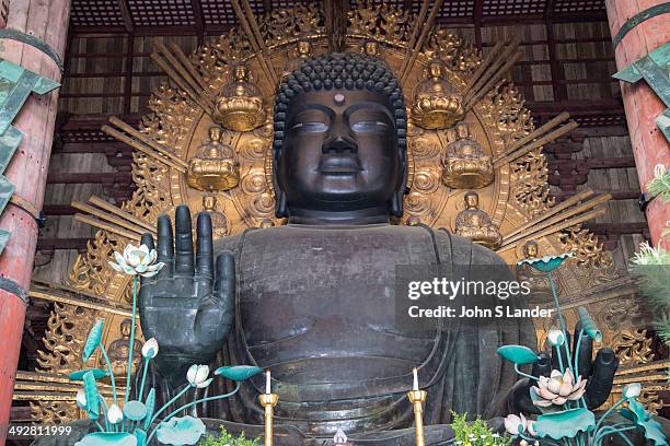
[[[192,364],[215,360],[233,321],[234,258],[229,253],[219,255],[215,271],[211,219],[206,212],[198,214],[194,256],[190,222],[188,207],[177,207],[173,243],[170,218],[159,218],[158,261],[165,266],[158,275],[140,282],[142,332],[145,339],[158,340],[160,350],[153,362],[172,385],[186,382]],[[151,234],[142,236],[142,244],[153,249]]]

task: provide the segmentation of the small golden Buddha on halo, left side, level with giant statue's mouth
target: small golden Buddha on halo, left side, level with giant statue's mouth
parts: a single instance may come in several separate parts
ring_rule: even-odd
[[[209,129],[208,140],[188,161],[186,183],[206,191],[232,189],[240,183],[240,166],[235,152],[222,142],[223,132],[218,126]]]

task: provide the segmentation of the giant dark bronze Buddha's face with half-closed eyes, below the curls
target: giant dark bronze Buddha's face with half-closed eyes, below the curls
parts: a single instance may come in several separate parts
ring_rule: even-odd
[[[278,165],[289,209],[385,207],[403,179],[393,109],[370,91],[312,91],[287,110]]]

